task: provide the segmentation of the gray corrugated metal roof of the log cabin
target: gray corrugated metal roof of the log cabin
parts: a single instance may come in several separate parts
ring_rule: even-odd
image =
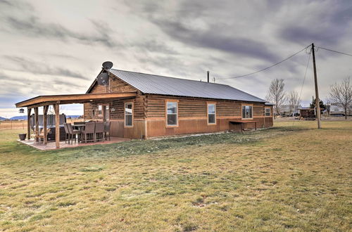
[[[266,102],[263,99],[225,84],[199,82],[115,69],[111,69],[110,72],[144,94]]]

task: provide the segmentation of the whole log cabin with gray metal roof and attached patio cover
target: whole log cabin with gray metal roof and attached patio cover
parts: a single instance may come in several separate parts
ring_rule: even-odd
[[[108,77],[106,85],[98,82],[101,74]],[[37,96],[15,105],[27,107],[28,117],[34,109],[36,133],[38,108],[44,108],[44,144],[49,105],[54,106],[56,128],[60,105],[82,103],[84,120],[109,120],[111,136],[120,138],[244,131],[273,124],[271,103],[229,85],[104,68],[99,75],[86,94]],[[27,130],[30,139],[29,124]],[[55,136],[59,148],[60,132]]]

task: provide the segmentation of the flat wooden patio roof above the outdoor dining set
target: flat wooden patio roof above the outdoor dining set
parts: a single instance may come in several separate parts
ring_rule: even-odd
[[[15,103],[16,107],[35,108],[44,105],[53,104],[73,104],[87,103],[101,100],[110,100],[114,98],[130,98],[137,96],[137,92],[125,93],[109,93],[109,94],[65,94],[65,95],[44,95],[30,98],[19,103]]]

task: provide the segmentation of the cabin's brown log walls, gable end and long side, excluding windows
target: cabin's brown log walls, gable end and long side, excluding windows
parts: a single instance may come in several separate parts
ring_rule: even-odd
[[[111,136],[124,138],[150,138],[176,134],[206,133],[215,131],[239,130],[239,125],[232,125],[230,120],[241,120],[241,105],[245,102],[230,100],[214,100],[176,96],[161,96],[147,94],[134,89],[120,79],[111,81],[113,92],[137,91],[137,96],[130,99],[108,101],[111,109]],[[91,93],[105,93],[105,86],[94,86]],[[165,123],[165,101],[178,101],[178,126],[167,127]],[[125,127],[125,102],[133,102],[133,127]],[[216,104],[216,124],[208,124],[207,103]],[[101,103],[84,103],[85,120],[102,120],[98,115],[98,105]],[[272,127],[272,116],[264,116],[264,103],[246,102],[253,105],[253,120],[257,127]],[[266,106],[268,107],[268,106]],[[112,110],[114,109],[114,110]],[[271,107],[272,112],[272,107]],[[243,124],[244,129],[254,127],[254,124]]]

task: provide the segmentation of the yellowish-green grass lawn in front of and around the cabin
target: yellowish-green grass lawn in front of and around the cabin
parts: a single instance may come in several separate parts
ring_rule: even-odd
[[[0,131],[0,231],[351,231],[352,122],[39,151]]]

